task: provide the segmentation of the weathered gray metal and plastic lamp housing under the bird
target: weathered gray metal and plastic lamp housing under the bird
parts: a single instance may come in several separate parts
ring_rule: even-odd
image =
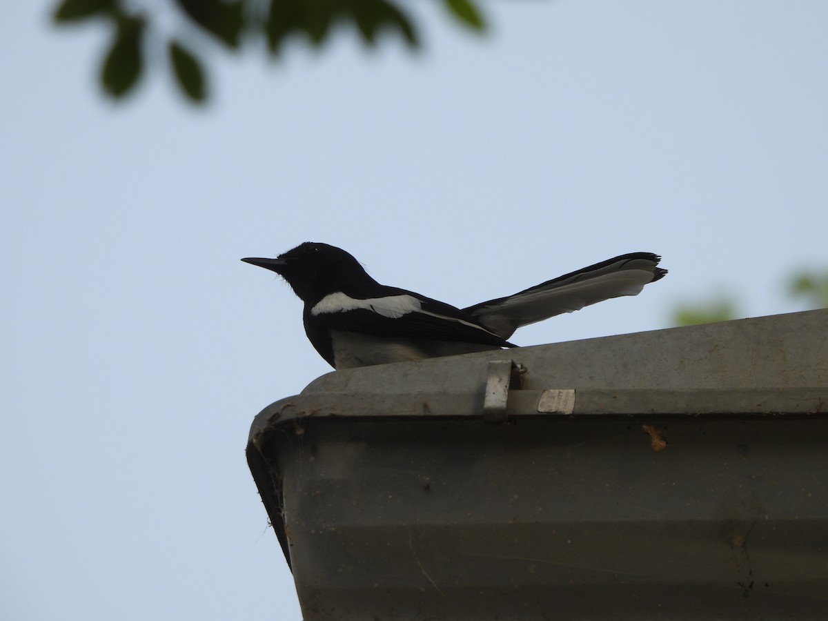
[[[306,621],[828,618],[826,335],[820,310],[514,349],[504,425],[503,353],[323,376],[248,445]]]

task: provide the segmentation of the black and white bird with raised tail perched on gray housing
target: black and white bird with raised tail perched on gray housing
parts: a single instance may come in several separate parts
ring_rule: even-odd
[[[629,253],[551,281],[455,308],[379,284],[341,248],[306,242],[277,258],[243,258],[276,272],[305,303],[305,332],[336,369],[516,347],[517,328],[595,302],[635,296],[667,274],[661,257]]]

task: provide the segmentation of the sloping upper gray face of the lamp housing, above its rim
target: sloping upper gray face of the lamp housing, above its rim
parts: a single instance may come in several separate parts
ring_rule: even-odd
[[[311,392],[468,392],[481,360],[527,367],[523,388],[799,388],[828,386],[828,310],[536,345],[506,352],[328,373]]]

